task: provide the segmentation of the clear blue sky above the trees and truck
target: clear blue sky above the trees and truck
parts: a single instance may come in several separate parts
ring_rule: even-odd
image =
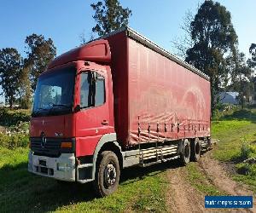
[[[90,39],[95,26],[90,3],[95,0],[0,0],[0,49],[15,48],[25,57],[25,38],[32,33],[51,37],[57,55],[79,46],[80,36]],[[129,26],[164,49],[173,52],[172,40],[182,37],[183,19],[189,10],[195,14],[202,0],[119,0],[132,10]],[[247,56],[256,43],[256,1],[219,0],[232,16],[239,48]],[[0,89],[0,93],[1,93]],[[3,95],[0,95],[0,102]]]

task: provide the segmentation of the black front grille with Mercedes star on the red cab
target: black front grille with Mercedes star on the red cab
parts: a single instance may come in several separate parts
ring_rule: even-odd
[[[61,148],[61,142],[72,141],[73,148]],[[48,157],[59,157],[61,153],[73,153],[74,152],[74,139],[63,139],[63,138],[46,138],[46,143],[42,146],[41,137],[31,137],[31,150],[36,155],[48,156]]]

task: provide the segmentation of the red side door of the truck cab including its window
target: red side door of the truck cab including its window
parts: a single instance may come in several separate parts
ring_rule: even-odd
[[[79,73],[79,111],[76,112],[76,156],[92,155],[109,126],[108,76],[106,71]]]

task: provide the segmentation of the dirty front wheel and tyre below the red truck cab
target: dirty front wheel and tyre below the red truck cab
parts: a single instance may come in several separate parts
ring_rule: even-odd
[[[115,153],[104,151],[96,164],[94,186],[97,195],[104,197],[114,193],[119,186],[119,159]]]

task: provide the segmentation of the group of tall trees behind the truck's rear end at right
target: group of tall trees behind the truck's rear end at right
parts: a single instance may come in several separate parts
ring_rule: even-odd
[[[238,37],[230,12],[212,0],[201,3],[195,15],[187,14],[183,27],[185,37],[174,41],[177,53],[211,78],[212,112],[218,108],[220,93],[238,92],[241,107],[254,97],[256,78],[256,44],[251,58],[238,49]]]

